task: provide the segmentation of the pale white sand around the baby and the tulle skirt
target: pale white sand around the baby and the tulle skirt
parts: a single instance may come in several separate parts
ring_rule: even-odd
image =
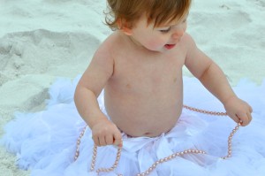
[[[0,135],[16,111],[40,111],[49,86],[87,68],[111,33],[102,0],[0,0]],[[193,0],[188,30],[231,82],[265,78],[265,0]],[[190,76],[186,68],[185,75]],[[23,176],[0,148],[0,176]]]

